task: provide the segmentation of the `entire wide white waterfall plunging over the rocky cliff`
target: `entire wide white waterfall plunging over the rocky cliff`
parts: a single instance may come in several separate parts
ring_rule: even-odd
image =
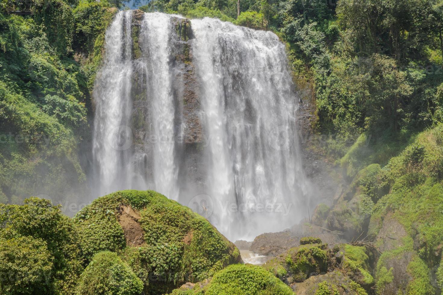
[[[119,12],[94,87],[96,194],[154,189],[234,240],[305,215],[284,44],[216,19]]]

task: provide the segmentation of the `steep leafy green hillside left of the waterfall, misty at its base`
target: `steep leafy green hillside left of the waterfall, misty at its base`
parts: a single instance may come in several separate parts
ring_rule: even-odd
[[[115,10],[103,1],[33,3],[32,15],[0,13],[0,201],[47,195],[62,203],[85,192],[78,155],[87,150],[90,92]]]

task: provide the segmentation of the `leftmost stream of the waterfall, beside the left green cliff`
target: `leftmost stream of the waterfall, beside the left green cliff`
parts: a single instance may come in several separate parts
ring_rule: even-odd
[[[93,157],[100,195],[114,192],[130,181],[127,147],[132,141],[132,130],[127,126],[131,114],[131,16],[131,11],[120,11],[106,31],[103,67],[94,84]]]

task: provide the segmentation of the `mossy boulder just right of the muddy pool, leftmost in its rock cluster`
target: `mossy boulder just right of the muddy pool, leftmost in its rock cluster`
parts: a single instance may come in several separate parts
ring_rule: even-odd
[[[286,284],[302,282],[311,275],[327,272],[328,252],[326,244],[300,245],[266,262],[263,267]]]

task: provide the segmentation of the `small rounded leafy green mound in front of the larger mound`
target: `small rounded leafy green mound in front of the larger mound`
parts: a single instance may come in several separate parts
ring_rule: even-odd
[[[76,295],[139,295],[143,282],[116,253],[95,254],[80,276]]]

